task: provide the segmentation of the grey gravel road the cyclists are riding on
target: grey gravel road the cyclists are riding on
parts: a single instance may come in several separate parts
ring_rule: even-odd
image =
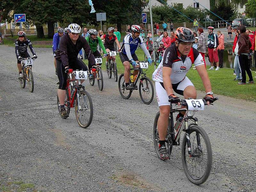
[[[104,73],[102,92],[97,83],[84,83],[94,115],[83,129],[74,108],[68,119],[59,116],[52,49],[35,50],[31,93],[20,88],[14,47],[0,46],[0,191],[14,181],[42,192],[256,191],[255,102],[218,96],[214,106],[197,112],[212,143],[213,164],[208,180],[196,186],[183,171],[180,146],[169,161],[156,156],[155,99],[145,105],[138,91],[122,99],[117,82]]]

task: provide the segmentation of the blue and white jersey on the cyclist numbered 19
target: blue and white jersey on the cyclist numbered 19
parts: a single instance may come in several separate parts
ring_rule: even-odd
[[[130,45],[130,52],[131,55],[135,53],[135,51],[137,50],[139,44],[143,44],[143,38],[141,36],[139,36],[138,38],[133,39],[132,38],[132,34],[127,34],[126,36],[124,36],[124,40],[123,40],[123,44],[121,47],[121,52],[124,53],[125,55],[127,55],[126,51],[125,51],[125,47],[124,44],[129,44]]]

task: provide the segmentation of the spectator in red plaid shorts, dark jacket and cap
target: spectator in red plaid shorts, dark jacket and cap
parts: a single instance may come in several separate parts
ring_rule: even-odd
[[[217,47],[219,45],[219,39],[218,36],[213,33],[214,27],[208,27],[208,52],[209,52],[209,60],[211,62],[211,68],[208,70],[214,70],[213,63],[216,62],[217,68],[215,71],[219,70],[219,58],[218,58],[218,52],[217,52]]]

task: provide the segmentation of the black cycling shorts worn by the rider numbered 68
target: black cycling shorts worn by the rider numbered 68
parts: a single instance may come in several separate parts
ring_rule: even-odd
[[[56,59],[56,64],[57,64],[57,74],[58,74],[58,78],[59,78],[59,81],[60,81],[59,89],[66,90],[67,73],[65,73],[65,68],[62,65],[61,60]],[[88,71],[88,68],[84,64],[84,62],[81,61],[78,58],[76,60],[72,61],[72,62],[69,62],[69,67],[72,68],[73,70]]]

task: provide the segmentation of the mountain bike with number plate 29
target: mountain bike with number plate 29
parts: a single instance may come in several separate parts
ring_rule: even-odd
[[[89,82],[90,85],[94,85],[95,83],[95,78],[97,78],[98,81],[98,87],[100,89],[100,91],[103,90],[103,74],[102,74],[102,70],[101,70],[101,64],[102,64],[102,57],[95,57],[95,62],[96,62],[96,71],[95,72],[89,72],[88,73],[88,77],[90,77],[90,75],[93,75],[93,78],[89,78]]]

